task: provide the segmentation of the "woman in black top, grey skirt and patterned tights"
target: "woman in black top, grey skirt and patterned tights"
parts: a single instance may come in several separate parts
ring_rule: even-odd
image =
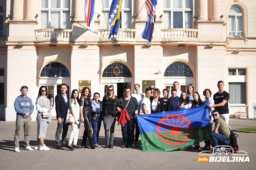
[[[107,88],[107,95],[102,100],[102,118],[105,129],[105,138],[107,144],[105,148],[113,148],[113,140],[115,137],[115,123],[118,117],[120,109],[120,102],[117,96],[115,96],[114,86],[110,85]],[[109,131],[110,131],[110,145],[109,145]]]

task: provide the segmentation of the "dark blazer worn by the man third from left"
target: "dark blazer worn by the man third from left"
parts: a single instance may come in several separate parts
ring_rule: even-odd
[[[68,97],[68,102],[69,102],[69,97]],[[68,106],[67,106],[67,103],[65,102],[64,96],[61,93],[55,96],[55,110],[56,110],[57,119],[67,117]]]

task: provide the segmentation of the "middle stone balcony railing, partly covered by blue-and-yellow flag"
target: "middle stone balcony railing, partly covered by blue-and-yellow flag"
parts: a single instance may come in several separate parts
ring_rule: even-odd
[[[110,39],[108,39],[109,34],[110,34],[110,29],[98,30],[99,41],[109,41],[109,40],[135,41],[134,39],[135,29],[119,28],[117,35],[111,35]]]

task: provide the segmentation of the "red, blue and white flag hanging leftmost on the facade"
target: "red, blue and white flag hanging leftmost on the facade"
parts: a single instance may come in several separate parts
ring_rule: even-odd
[[[90,26],[91,31],[94,32],[94,0],[86,1],[84,12],[87,17],[87,26]]]

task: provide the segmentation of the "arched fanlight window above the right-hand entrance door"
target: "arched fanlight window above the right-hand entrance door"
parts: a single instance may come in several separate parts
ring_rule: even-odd
[[[182,62],[175,62],[170,64],[165,72],[165,77],[193,77],[191,68]]]

